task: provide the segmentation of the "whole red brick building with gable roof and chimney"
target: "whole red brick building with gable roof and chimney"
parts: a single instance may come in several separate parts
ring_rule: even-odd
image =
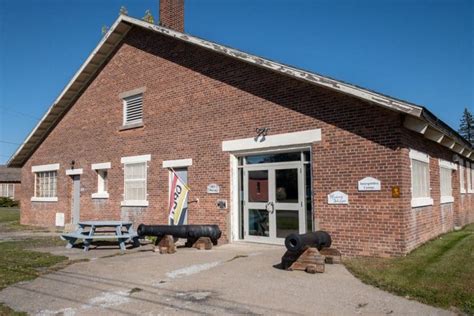
[[[474,148],[426,108],[185,34],[183,6],[120,16],[10,159],[22,224],[167,223],[170,168],[222,242],[396,256],[474,221]]]

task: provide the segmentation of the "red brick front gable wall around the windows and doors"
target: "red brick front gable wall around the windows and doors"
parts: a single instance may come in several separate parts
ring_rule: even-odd
[[[144,127],[120,131],[119,94],[135,88],[144,93]],[[227,239],[230,203],[229,154],[222,141],[254,137],[256,127],[270,135],[320,128],[322,141],[313,144],[315,226],[329,231],[345,255],[400,255],[411,235],[406,201],[405,132],[399,114],[383,110],[192,45],[132,30],[110,62],[73,108],[28,160],[22,171],[23,224],[54,225],[56,212],[70,221],[70,162],[83,168],[81,219],[132,219],[166,223],[168,172],[163,160],[192,158],[188,168],[189,223],[216,223]],[[120,158],[151,154],[147,208],[122,208],[123,170]],[[111,162],[110,198],[92,200],[97,176],[92,163]],[[58,202],[31,202],[31,166],[60,163]],[[409,170],[409,169],[408,169]],[[357,181],[372,176],[380,192],[358,192]],[[408,177],[409,179],[409,177]],[[217,183],[217,195],[206,193]],[[391,187],[402,187],[402,198]],[[349,194],[349,205],[328,205],[327,194]],[[405,209],[404,209],[405,208]],[[446,211],[445,217],[449,217]],[[449,221],[448,221],[449,222]],[[449,223],[446,224],[449,226]],[[411,237],[410,237],[411,238]]]

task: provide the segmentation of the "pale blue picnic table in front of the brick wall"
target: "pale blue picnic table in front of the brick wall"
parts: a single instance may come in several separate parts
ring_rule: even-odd
[[[120,250],[125,251],[125,242],[127,241],[132,241],[134,246],[140,246],[138,234],[133,229],[132,224],[132,222],[123,221],[79,222],[76,231],[61,234],[61,239],[68,242],[66,248],[72,248],[78,239],[83,240],[84,251],[89,250],[89,246],[94,239],[116,239],[120,245]],[[104,231],[97,230],[97,228],[112,228],[112,230]]]

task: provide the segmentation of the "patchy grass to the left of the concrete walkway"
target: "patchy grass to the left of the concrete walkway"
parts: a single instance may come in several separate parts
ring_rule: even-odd
[[[0,209],[0,233],[27,230],[19,224],[18,209]],[[39,275],[59,269],[69,263],[67,257],[36,252],[29,248],[62,245],[57,237],[43,237],[19,241],[0,240],[0,290],[20,281],[32,280]],[[25,315],[16,313],[0,303],[0,315]]]

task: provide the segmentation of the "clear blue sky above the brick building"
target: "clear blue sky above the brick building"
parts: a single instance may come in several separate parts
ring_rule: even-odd
[[[0,0],[0,164],[112,25],[157,0]],[[186,0],[190,34],[427,106],[474,110],[474,1]],[[11,142],[9,144],[6,142]]]

